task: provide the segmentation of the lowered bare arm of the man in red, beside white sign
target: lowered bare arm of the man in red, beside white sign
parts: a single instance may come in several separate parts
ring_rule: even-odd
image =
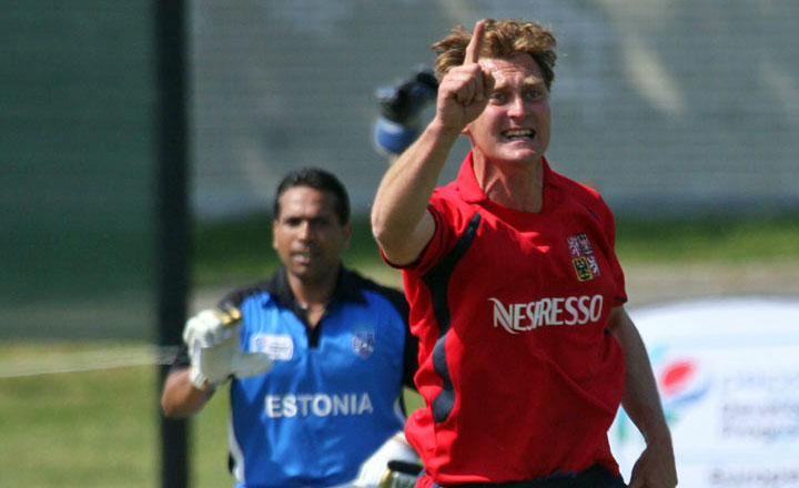
[[[614,308],[608,328],[621,345],[627,363],[621,405],[646,440],[646,449],[633,468],[629,487],[674,488],[677,470],[671,435],[644,340],[621,306]]]

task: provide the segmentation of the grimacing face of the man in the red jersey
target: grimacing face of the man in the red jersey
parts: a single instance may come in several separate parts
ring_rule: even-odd
[[[549,91],[540,68],[528,54],[486,58],[479,63],[495,79],[483,113],[466,128],[476,155],[490,162],[540,161],[549,145]]]

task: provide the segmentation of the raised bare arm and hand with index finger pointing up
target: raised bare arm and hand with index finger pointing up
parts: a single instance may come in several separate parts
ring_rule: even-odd
[[[372,232],[394,264],[415,261],[433,236],[435,222],[427,203],[458,135],[488,102],[494,79],[478,63],[482,38],[479,21],[466,47],[464,63],[449,70],[438,85],[433,121],[390,166],[377,187]]]

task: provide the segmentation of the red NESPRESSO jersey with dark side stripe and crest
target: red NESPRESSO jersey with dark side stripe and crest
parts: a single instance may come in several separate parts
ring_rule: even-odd
[[[626,292],[614,217],[597,192],[543,164],[543,210],[527,213],[489,201],[466,156],[433,193],[431,243],[403,268],[426,404],[405,429],[419,486],[594,464],[618,475],[607,430],[625,363],[606,324]]]

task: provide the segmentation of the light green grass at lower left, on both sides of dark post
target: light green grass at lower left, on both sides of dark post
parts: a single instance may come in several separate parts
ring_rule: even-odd
[[[98,350],[133,349],[138,366],[103,365]],[[131,344],[3,344],[0,486],[160,486],[158,354]],[[83,370],[91,363],[105,369]],[[131,362],[135,363],[135,362]],[[37,374],[37,370],[65,373]],[[232,485],[225,392],[192,420],[196,487]]]

